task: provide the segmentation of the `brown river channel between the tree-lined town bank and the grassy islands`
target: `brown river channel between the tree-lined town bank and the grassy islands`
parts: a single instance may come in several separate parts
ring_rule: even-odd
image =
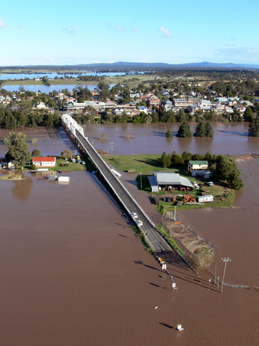
[[[115,143],[114,155],[132,154],[162,154],[171,153],[173,150],[178,154],[191,152],[193,154],[205,154],[209,150],[213,154],[247,155],[257,153],[259,138],[248,137],[248,123],[211,122],[214,129],[214,138],[178,138],[176,137],[180,124],[154,123],[154,124],[111,124],[111,125],[83,125],[85,136],[96,149],[104,152],[110,151],[110,143]],[[190,122],[194,132],[197,122]],[[166,138],[168,129],[173,131],[173,138]],[[0,155],[7,152],[7,147],[3,143],[10,131],[0,129]],[[30,150],[40,149],[42,155],[59,155],[64,149],[70,149],[77,153],[77,147],[70,141],[63,127],[58,129],[18,128],[15,131],[23,131],[26,134],[26,143]],[[102,134],[106,135],[105,140],[97,140]],[[128,134],[130,139],[125,139]],[[37,138],[37,143],[32,145],[31,138]]]

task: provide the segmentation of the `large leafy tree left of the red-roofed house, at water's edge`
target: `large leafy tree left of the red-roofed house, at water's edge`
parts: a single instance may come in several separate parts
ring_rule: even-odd
[[[14,161],[15,165],[23,166],[30,160],[31,153],[28,152],[28,145],[25,143],[26,135],[22,132],[10,132],[9,136],[4,139],[8,145],[6,159]]]

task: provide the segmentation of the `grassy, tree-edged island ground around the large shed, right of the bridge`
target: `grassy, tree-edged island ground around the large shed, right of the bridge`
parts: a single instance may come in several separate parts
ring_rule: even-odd
[[[212,156],[210,153],[208,153],[207,156],[196,155],[200,159],[204,159],[204,157],[207,159],[209,158],[213,175],[209,179],[204,179],[201,176],[192,176],[191,172],[188,171],[186,161],[188,162],[191,159],[191,154],[189,154],[189,156],[187,155],[188,157],[185,158],[185,164],[184,162],[178,161],[183,158],[184,154],[182,156],[177,154],[170,155],[170,157],[168,156],[168,159],[170,158],[169,167],[162,162],[165,155],[164,153],[162,156],[114,156],[113,158],[106,158],[106,160],[120,171],[131,172],[131,170],[134,169],[134,173],[138,173],[136,177],[137,187],[143,192],[149,193],[151,197],[157,196],[156,208],[161,214],[164,214],[166,210],[174,210],[175,206],[177,206],[178,209],[234,207],[235,190],[242,188],[240,172],[236,168],[235,158],[222,155]],[[176,162],[173,163],[173,160]],[[169,191],[168,189],[164,189],[159,192],[152,192],[148,176],[152,176],[153,172],[178,173],[180,176],[188,178],[191,184],[195,183],[198,185],[199,188],[193,188],[192,191],[179,191],[176,189]],[[235,179],[236,182],[234,181]],[[209,181],[211,181],[213,185],[211,184],[211,186],[209,186]],[[212,195],[213,201],[198,203],[198,197],[202,195]],[[196,202],[191,204],[182,203],[183,196],[189,196],[195,199]]]

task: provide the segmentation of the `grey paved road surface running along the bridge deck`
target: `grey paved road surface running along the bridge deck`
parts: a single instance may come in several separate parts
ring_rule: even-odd
[[[110,183],[113,190],[117,193],[120,199],[122,199],[125,206],[130,210],[130,212],[135,212],[138,215],[138,219],[143,222],[141,227],[148,241],[152,244],[155,253],[171,253],[172,249],[162,237],[157,233],[151,222],[145,217],[142,210],[137,206],[137,204],[131,199],[128,193],[124,190],[122,185],[117,181],[111,170],[105,165],[103,159],[95,152],[92,145],[76,130],[77,138],[80,140],[81,145],[86,149],[86,152],[92,158],[95,165],[98,167],[99,171],[102,173],[104,178]]]

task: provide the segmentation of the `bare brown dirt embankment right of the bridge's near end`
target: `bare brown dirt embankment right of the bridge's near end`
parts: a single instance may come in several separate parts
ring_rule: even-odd
[[[193,253],[197,248],[212,248],[216,250],[217,245],[212,244],[209,240],[204,239],[189,228],[189,226],[182,224],[180,219],[174,221],[174,212],[167,211],[164,215],[164,224],[169,230],[171,238],[178,240],[190,253]]]

